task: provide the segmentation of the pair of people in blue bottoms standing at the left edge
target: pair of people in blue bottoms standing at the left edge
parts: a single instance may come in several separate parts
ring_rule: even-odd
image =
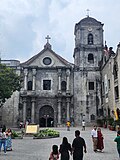
[[[0,128],[0,153],[1,148],[3,146],[4,153],[6,151],[12,151],[12,131],[10,128],[6,129],[6,126],[3,125],[2,128]]]

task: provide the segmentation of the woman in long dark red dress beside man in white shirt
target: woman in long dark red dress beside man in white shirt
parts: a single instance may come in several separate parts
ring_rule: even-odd
[[[100,152],[102,152],[102,150],[104,149],[104,143],[103,143],[103,134],[101,132],[101,128],[97,129],[97,149],[99,149]]]

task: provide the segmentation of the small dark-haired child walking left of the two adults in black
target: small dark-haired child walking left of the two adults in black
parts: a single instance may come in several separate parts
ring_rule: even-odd
[[[58,160],[58,159],[59,159],[58,146],[53,145],[52,146],[52,152],[50,153],[49,160]]]

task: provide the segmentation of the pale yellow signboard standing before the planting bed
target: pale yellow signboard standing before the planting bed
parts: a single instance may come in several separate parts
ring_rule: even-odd
[[[27,125],[26,133],[38,133],[39,125]]]

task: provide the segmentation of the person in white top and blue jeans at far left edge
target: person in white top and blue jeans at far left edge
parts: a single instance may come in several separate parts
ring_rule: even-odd
[[[4,147],[4,153],[6,153],[6,133],[4,129],[0,131],[0,153],[1,153],[2,145]]]

